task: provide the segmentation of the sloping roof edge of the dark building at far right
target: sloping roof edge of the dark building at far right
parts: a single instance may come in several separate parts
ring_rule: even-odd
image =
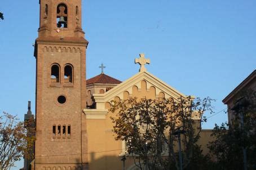
[[[232,92],[230,92],[223,100],[222,102],[224,104],[227,104],[227,102],[232,99],[233,96],[235,96],[243,87],[246,86],[246,84],[250,83],[253,78],[256,77],[256,70],[253,71],[248,77],[246,77]]]

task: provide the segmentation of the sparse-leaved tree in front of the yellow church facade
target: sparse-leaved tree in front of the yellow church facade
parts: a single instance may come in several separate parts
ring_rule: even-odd
[[[116,140],[126,142],[127,153],[133,157],[138,168],[179,169],[177,151],[177,129],[182,128],[183,168],[188,167],[195,156],[199,156],[202,116],[211,110],[211,100],[193,99],[191,96],[178,100],[151,100],[130,98],[113,101],[114,133]],[[167,148],[163,154],[163,148]],[[197,155],[195,151],[197,150]],[[203,156],[202,156],[203,157]]]

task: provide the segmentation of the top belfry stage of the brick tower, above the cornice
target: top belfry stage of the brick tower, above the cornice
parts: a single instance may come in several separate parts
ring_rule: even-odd
[[[81,0],[40,0],[39,37],[83,37]]]

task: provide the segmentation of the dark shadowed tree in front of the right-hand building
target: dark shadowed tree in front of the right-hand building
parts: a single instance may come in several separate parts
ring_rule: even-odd
[[[256,93],[248,90],[237,95],[233,110],[235,119],[230,123],[217,124],[210,142],[211,154],[217,158],[218,169],[244,169],[244,153],[248,169],[256,168]]]

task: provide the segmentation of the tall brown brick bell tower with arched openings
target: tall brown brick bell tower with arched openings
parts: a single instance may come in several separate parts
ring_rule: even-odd
[[[34,169],[87,169],[86,48],[81,0],[41,0]]]

